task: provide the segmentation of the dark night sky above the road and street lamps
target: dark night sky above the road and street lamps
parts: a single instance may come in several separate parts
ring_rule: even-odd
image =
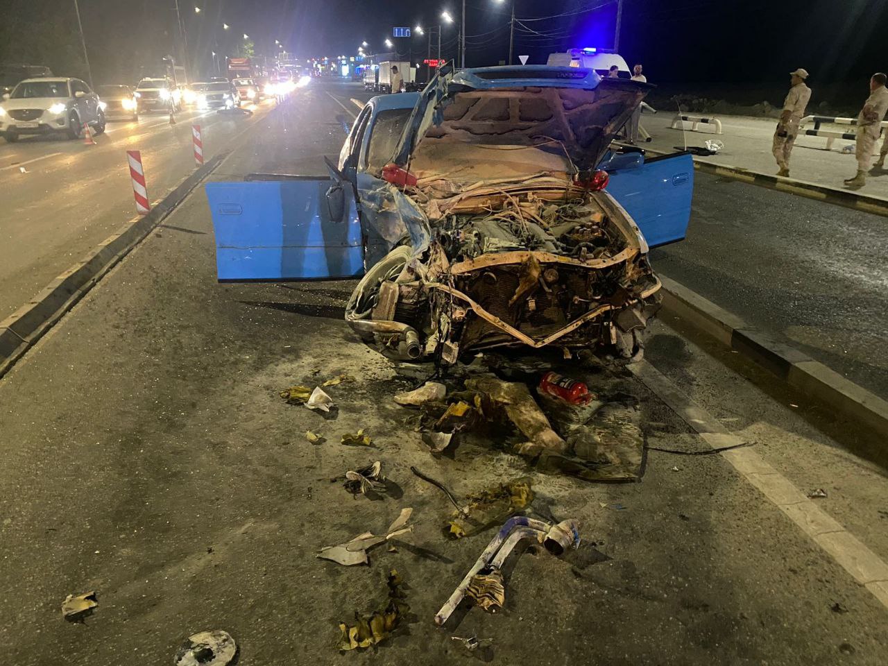
[[[515,55],[544,62],[549,52],[572,46],[611,47],[615,4],[603,0],[514,0],[516,15],[525,28],[516,37]],[[469,66],[496,64],[508,51],[511,0],[469,0],[467,7]],[[0,59],[47,62],[63,72],[73,62],[65,55],[39,49],[39,34],[28,21],[66,27],[67,39],[76,38],[73,0],[4,0],[6,28],[0,27]],[[194,4],[202,7],[194,13]],[[557,19],[533,20],[559,13],[600,7]],[[620,52],[630,62],[645,65],[652,83],[736,83],[774,81],[781,86],[787,74],[805,67],[812,82],[858,82],[888,69],[888,0],[625,0]],[[178,36],[174,0],[80,0],[83,28],[94,72],[101,78],[131,75],[139,63],[151,62],[158,52],[170,52]],[[460,0],[404,2],[401,0],[180,0],[186,21],[189,51],[202,54],[210,65],[210,50],[231,51],[232,40],[244,32],[258,52],[274,52],[280,39],[289,52],[303,56],[353,55],[362,40],[372,51],[385,50],[383,41],[392,26],[436,24],[440,11],[455,17]],[[64,18],[69,12],[70,17]],[[52,19],[50,18],[52,17]],[[222,22],[231,29],[224,31]],[[456,25],[444,28],[444,51],[456,55]],[[535,31],[533,34],[529,30]],[[43,30],[45,32],[45,29]],[[424,58],[426,37],[397,41],[401,52]],[[59,37],[53,37],[53,44]],[[79,47],[79,44],[75,44]],[[436,51],[436,47],[432,48]],[[63,60],[59,64],[59,59]],[[41,63],[44,64],[44,63]]]

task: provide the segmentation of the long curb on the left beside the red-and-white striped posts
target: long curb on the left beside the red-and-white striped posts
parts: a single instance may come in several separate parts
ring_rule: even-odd
[[[210,158],[163,197],[163,200],[156,202],[151,212],[132,218],[41,289],[27,304],[0,321],[0,377],[92,289],[102,275],[150,234],[231,152],[232,150],[223,151]]]

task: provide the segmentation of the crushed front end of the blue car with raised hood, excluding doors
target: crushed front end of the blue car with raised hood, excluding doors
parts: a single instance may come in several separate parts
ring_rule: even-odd
[[[380,235],[402,240],[355,289],[353,329],[451,363],[503,346],[637,354],[660,281],[594,167],[645,92],[560,67],[430,85],[368,197]]]

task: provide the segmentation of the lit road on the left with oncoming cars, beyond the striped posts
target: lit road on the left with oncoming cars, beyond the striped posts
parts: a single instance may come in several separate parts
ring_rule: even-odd
[[[141,151],[154,201],[194,171],[193,123],[209,159],[272,107],[266,99],[243,106],[252,115],[186,110],[171,126],[163,114],[109,121],[97,146],[63,134],[0,140],[0,320],[135,216],[125,151]]]

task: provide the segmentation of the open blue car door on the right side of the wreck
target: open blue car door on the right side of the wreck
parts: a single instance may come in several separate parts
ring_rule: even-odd
[[[610,171],[607,192],[635,220],[650,247],[681,241],[691,219],[694,160],[688,153],[645,157],[640,166]]]

